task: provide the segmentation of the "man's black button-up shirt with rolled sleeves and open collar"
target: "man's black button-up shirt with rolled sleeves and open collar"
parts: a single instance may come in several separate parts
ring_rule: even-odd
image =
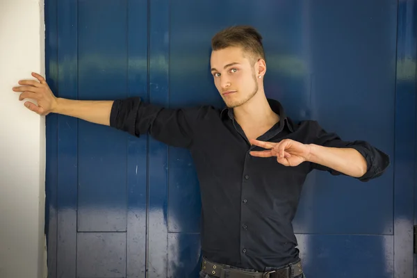
[[[280,120],[259,140],[290,138],[304,144],[357,149],[368,164],[360,177],[379,177],[389,156],[368,142],[345,142],[316,121],[295,124],[278,101],[268,99]],[[249,154],[251,146],[233,109],[213,106],[163,108],[138,97],[116,100],[111,126],[134,136],[148,133],[167,145],[190,150],[202,197],[202,254],[209,261],[263,271],[298,259],[292,220],[306,175],[313,169],[341,174],[315,163],[286,167],[276,157]]]

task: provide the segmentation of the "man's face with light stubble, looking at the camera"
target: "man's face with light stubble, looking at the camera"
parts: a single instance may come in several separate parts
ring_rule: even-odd
[[[211,53],[215,87],[229,108],[245,104],[258,91],[252,61],[250,54],[244,55],[240,47],[227,47]]]

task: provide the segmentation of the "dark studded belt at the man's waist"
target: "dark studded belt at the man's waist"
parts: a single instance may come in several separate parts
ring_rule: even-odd
[[[293,272],[291,272],[291,268],[293,268]],[[250,272],[245,270],[238,270],[235,268],[226,268],[220,263],[213,263],[203,258],[202,270],[208,273],[208,275],[219,278],[225,277],[224,270],[229,272],[229,276],[227,276],[229,278],[293,278],[302,274],[302,265],[301,262],[299,262],[279,270],[271,270],[267,272]]]

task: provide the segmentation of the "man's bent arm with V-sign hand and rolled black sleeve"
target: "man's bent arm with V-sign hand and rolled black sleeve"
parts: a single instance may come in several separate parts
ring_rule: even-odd
[[[336,133],[327,133],[317,122],[307,121],[311,131],[304,144],[291,139],[280,142],[251,140],[253,145],[266,150],[251,152],[252,156],[277,156],[277,161],[286,166],[297,166],[307,161],[312,169],[325,170],[331,174],[346,174],[361,181],[379,177],[389,166],[389,156],[366,141],[347,142]]]

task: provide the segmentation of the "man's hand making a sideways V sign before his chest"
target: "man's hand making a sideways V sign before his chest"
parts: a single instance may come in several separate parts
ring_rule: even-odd
[[[252,156],[271,157],[277,156],[278,163],[285,166],[297,166],[304,161],[308,161],[311,156],[310,145],[305,145],[300,142],[284,139],[280,142],[264,142],[251,139],[250,143],[259,147],[267,149],[260,152],[250,152]]]

